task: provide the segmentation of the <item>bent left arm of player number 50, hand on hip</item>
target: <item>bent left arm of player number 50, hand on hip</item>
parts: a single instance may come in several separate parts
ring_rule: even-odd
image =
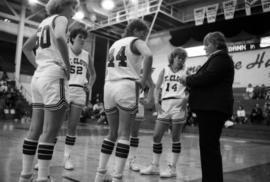
[[[23,45],[23,53],[28,59],[28,61],[36,68],[36,57],[34,54],[34,49],[36,48],[37,34],[32,35]]]

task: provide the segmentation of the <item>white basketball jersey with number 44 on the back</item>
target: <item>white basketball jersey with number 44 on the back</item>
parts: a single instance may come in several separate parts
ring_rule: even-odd
[[[139,79],[142,56],[131,51],[131,43],[136,39],[138,38],[126,37],[111,46],[106,63],[106,81]]]

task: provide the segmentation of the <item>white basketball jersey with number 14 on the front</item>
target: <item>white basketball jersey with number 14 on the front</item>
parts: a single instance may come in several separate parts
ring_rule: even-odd
[[[185,97],[186,87],[180,83],[180,77],[185,74],[185,70],[174,73],[169,66],[164,68],[161,99]]]

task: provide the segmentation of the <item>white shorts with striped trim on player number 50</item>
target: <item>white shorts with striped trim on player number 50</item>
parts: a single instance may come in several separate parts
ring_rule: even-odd
[[[31,94],[33,109],[58,110],[68,105],[69,93],[65,79],[33,76]]]

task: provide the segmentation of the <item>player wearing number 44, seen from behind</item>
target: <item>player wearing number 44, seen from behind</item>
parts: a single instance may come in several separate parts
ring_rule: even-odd
[[[151,77],[152,53],[144,41],[147,25],[139,19],[131,21],[122,39],[109,50],[104,86],[104,107],[109,122],[109,135],[103,140],[95,182],[105,178],[107,163],[116,144],[113,182],[121,182],[129,154],[131,117],[137,110],[138,83],[142,88]],[[143,62],[143,75],[140,70]]]

